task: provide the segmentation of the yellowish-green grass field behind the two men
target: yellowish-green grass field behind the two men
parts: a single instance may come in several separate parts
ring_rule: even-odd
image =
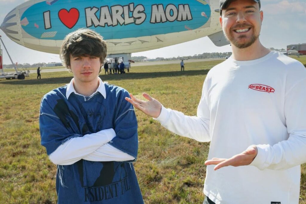
[[[306,57],[298,58],[306,65]],[[223,61],[223,60],[221,60]],[[131,68],[124,75],[101,75],[136,97],[147,92],[167,108],[196,115],[207,72],[221,61]],[[72,79],[69,72],[44,73],[37,80],[0,80],[0,203],[56,203],[56,166],[40,145],[39,103],[48,91]],[[139,152],[135,169],[146,204],[202,203],[209,143],[177,136],[136,110]],[[300,203],[306,203],[302,165]]]

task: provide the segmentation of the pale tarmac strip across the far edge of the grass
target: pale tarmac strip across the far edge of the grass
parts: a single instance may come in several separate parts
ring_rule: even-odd
[[[199,62],[199,61],[215,61],[215,60],[225,60],[225,58],[209,58],[209,59],[188,59],[188,60],[184,60],[185,63],[188,62]],[[167,61],[149,61],[149,62],[135,62],[135,63],[131,63],[131,69],[133,69],[133,67],[137,67],[137,66],[149,66],[149,65],[168,65],[168,64],[178,64],[180,65],[181,60],[167,60]],[[43,68],[41,69],[40,73],[45,73],[45,72],[63,72],[63,71],[67,71],[66,68],[54,68],[54,69],[46,69]],[[30,72],[31,74],[34,73],[36,74],[36,72]]]

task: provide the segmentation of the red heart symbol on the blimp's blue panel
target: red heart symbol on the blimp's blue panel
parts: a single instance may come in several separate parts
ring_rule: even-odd
[[[72,8],[69,11],[66,9],[61,9],[58,12],[58,17],[67,28],[71,29],[79,20],[80,14],[76,8]]]

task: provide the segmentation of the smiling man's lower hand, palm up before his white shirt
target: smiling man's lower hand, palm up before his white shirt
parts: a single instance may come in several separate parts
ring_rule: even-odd
[[[212,158],[211,160],[205,161],[205,165],[216,165],[214,170],[218,170],[225,166],[244,166],[252,163],[254,158],[257,156],[258,150],[256,145],[251,145],[241,154],[236,154],[232,158]]]

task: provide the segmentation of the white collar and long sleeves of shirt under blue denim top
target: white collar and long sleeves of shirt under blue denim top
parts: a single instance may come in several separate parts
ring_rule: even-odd
[[[98,77],[99,78],[99,77]],[[66,98],[69,98],[71,93],[76,93],[73,87],[73,80],[67,85]],[[99,91],[106,97],[105,86],[99,78],[99,87],[95,93]],[[92,95],[94,95],[93,93]],[[114,129],[101,130],[97,133],[83,135],[82,137],[71,138],[54,152],[49,155],[50,160],[57,165],[70,165],[80,159],[88,161],[132,161],[135,158],[131,155],[118,150],[108,144],[116,133]]]

